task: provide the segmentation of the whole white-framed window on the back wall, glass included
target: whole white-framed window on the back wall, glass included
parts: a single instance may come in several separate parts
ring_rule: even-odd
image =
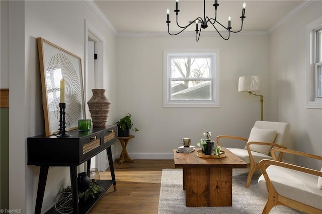
[[[219,107],[219,51],[164,52],[164,107]]]

